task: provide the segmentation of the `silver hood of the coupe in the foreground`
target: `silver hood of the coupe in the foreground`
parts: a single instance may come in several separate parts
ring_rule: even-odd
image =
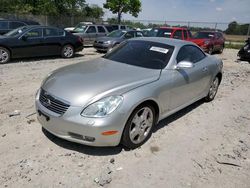
[[[154,82],[159,79],[160,72],[99,58],[54,71],[42,88],[71,106],[84,106]]]

